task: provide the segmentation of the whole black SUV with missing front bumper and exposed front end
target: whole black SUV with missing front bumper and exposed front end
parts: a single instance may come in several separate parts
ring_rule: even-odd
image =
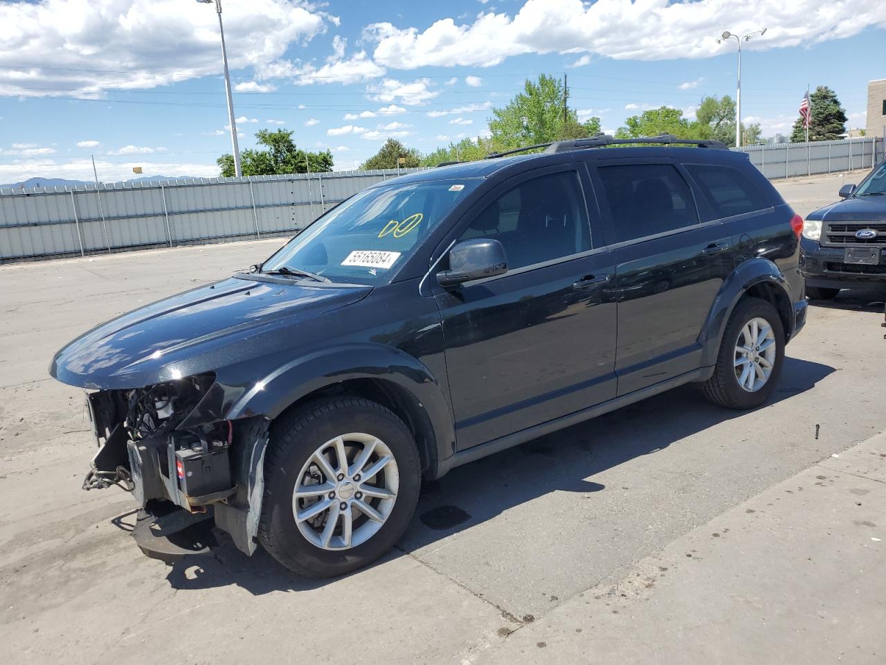
[[[805,322],[802,227],[722,144],[561,142],[359,192],[51,374],[92,391],[84,487],[134,491],[144,552],[198,550],[212,518],[340,575],[400,538],[423,477],[689,382],[766,402]]]

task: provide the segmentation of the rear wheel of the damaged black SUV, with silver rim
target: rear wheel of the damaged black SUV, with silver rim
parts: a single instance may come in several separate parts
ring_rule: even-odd
[[[704,395],[727,409],[753,409],[775,389],[784,363],[784,326],[773,305],[746,298],[736,305],[720,341]]]

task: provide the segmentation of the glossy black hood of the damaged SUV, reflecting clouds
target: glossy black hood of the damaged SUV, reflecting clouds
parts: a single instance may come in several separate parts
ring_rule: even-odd
[[[107,389],[211,372],[220,358],[235,363],[258,355],[262,335],[360,301],[371,291],[286,278],[229,278],[98,325],[59,350],[50,373],[72,386]],[[246,338],[254,343],[237,343]]]

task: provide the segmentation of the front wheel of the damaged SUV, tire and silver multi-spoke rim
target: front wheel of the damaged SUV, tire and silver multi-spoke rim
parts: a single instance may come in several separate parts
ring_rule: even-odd
[[[421,463],[408,427],[356,397],[307,403],[272,428],[259,537],[299,575],[333,577],[382,556],[408,528]]]

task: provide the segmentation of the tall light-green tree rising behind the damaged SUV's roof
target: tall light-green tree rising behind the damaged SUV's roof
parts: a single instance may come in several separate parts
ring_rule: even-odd
[[[578,113],[567,108],[563,113],[563,82],[541,74],[537,82],[525,81],[506,106],[493,109],[489,121],[492,144],[496,151],[525,145],[548,143],[563,138],[583,138],[600,130],[600,119],[579,122]],[[564,117],[565,116],[565,117]]]

